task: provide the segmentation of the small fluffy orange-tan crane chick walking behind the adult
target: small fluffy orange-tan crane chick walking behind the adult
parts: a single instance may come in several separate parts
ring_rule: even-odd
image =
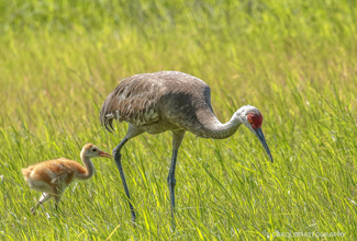
[[[92,144],[87,144],[80,152],[81,161],[85,167],[76,161],[66,158],[43,161],[29,168],[22,169],[22,174],[32,190],[42,192],[38,203],[31,208],[34,215],[36,207],[46,200],[54,198],[57,204],[60,200],[66,187],[75,180],[88,180],[94,174],[94,165],[91,158],[112,158]]]

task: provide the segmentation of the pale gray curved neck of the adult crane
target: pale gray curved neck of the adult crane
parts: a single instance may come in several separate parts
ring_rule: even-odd
[[[204,133],[203,135],[199,135],[199,136],[205,138],[213,138],[213,139],[224,139],[235,134],[239,128],[241,124],[242,124],[241,110],[235,112],[232,118],[225,124],[222,124],[213,114],[204,120],[204,125],[203,125]]]

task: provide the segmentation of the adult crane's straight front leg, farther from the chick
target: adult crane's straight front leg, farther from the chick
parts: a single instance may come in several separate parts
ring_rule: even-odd
[[[175,169],[176,169],[176,160],[177,160],[177,152],[178,149],[182,142],[182,139],[185,137],[185,130],[180,131],[172,131],[172,157],[171,157],[171,165],[170,170],[167,176],[167,183],[168,188],[170,192],[170,202],[171,202],[171,217],[172,217],[172,229],[175,229],[176,222],[175,222],[175,185],[176,185],[176,179],[175,179]]]

